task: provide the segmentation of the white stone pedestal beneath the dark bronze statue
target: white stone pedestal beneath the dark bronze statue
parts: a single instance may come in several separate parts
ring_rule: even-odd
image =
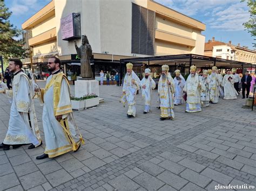
[[[79,79],[75,81],[75,97],[82,97],[88,94],[99,96],[99,82],[94,79]]]

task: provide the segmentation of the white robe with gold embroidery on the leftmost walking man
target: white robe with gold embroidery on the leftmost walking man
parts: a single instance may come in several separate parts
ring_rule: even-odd
[[[37,125],[32,90],[28,76],[19,72],[12,81],[12,90],[6,90],[12,98],[10,121],[4,144],[30,144],[39,146],[42,142]]]

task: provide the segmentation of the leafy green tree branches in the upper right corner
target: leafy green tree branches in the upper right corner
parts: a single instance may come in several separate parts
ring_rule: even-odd
[[[244,2],[245,0],[242,0],[241,2]],[[255,0],[247,0],[247,6],[249,8],[250,12],[250,19],[243,23],[245,28],[249,33],[251,33],[252,37],[256,37],[256,1]],[[256,39],[254,39],[256,40]],[[256,47],[256,44],[253,43],[254,47]]]

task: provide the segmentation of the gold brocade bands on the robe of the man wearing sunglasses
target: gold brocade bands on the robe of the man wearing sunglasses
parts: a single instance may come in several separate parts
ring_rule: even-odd
[[[58,115],[65,115],[65,114],[70,114],[71,117],[73,118],[73,112],[72,112],[72,106],[71,104],[69,105],[65,105],[63,107],[58,107],[58,103],[59,103],[59,98],[60,98],[60,87],[62,84],[62,80],[66,80],[66,83],[68,83],[68,87],[69,87],[69,81],[68,78],[65,76],[65,74],[63,72],[59,72],[55,75],[52,76],[52,79],[49,81],[49,83],[46,84],[44,89],[41,89],[41,99],[42,102],[44,101],[44,94],[48,91],[48,89],[53,86],[53,111],[54,111],[54,115],[58,116]],[[69,93],[70,93],[70,87],[69,87]],[[44,103],[44,102],[43,102]],[[73,151],[76,151],[79,144],[75,142],[75,140],[73,140],[71,133],[69,131],[69,128],[66,128],[65,124],[64,124],[64,119],[61,119],[59,124],[62,126],[64,133],[66,133],[66,135],[68,135],[68,137],[70,138],[70,143],[73,147]],[[77,126],[76,126],[77,128]],[[78,128],[77,128],[78,130]],[[78,130],[79,132],[79,130]],[[81,135],[81,133],[79,132],[79,137],[80,137],[80,143],[84,144],[84,139]]]

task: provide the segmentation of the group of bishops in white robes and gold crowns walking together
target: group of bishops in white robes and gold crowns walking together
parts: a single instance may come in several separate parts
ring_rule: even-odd
[[[120,102],[128,104],[127,117],[135,117],[135,98],[137,91],[141,88],[142,97],[145,100],[144,114],[147,114],[150,111],[152,90],[156,87],[156,82],[150,75],[151,70],[146,68],[145,76],[140,81],[132,70],[132,63],[127,63],[126,68]],[[224,100],[237,98],[238,93],[234,88],[233,74],[230,70],[227,70],[227,74],[223,77],[218,73],[218,68],[213,66],[210,70],[203,70],[203,75],[198,75],[197,67],[191,66],[187,80],[180,74],[180,70],[175,70],[174,79],[169,73],[169,66],[163,65],[161,70],[158,82],[160,120],[174,119],[174,105],[186,102],[185,112],[198,112],[202,107],[208,107],[210,103],[218,103],[220,95]]]

